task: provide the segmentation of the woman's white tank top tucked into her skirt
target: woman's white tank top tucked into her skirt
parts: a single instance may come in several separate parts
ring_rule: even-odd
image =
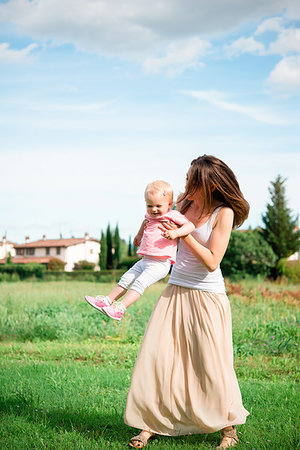
[[[213,212],[206,223],[199,228],[195,228],[191,233],[204,247],[209,247],[213,224],[220,208],[221,206]],[[209,272],[190,252],[181,239],[179,240],[176,263],[172,268],[169,284],[216,292],[218,294],[225,293],[225,284],[220,266],[213,272]]]

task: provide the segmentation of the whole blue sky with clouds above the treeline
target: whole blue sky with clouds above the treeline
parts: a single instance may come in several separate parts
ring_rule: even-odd
[[[234,171],[300,212],[298,0],[0,0],[0,239],[135,236],[144,189]],[[2,233],[2,234],[1,234]]]

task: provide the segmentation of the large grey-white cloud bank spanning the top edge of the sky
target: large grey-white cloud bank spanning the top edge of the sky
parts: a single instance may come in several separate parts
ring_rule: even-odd
[[[297,3],[227,0],[224,8],[224,0],[10,0],[0,4],[0,20],[55,45],[144,60],[145,52],[174,40],[209,39],[284,9],[295,16]]]

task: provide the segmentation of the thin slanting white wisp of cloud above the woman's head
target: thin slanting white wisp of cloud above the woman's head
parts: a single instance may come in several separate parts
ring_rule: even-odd
[[[251,117],[254,120],[262,123],[268,123],[270,125],[284,125],[285,121],[276,117],[270,111],[264,110],[260,107],[245,106],[238,103],[227,101],[225,94],[218,91],[182,91],[197,100],[205,101],[217,108],[224,109],[226,111],[237,112]]]

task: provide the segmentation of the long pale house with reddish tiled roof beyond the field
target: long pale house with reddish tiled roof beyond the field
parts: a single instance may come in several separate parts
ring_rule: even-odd
[[[15,264],[37,263],[47,265],[52,258],[60,259],[65,263],[65,271],[71,272],[74,264],[79,261],[88,261],[95,264],[95,270],[99,270],[100,242],[90,238],[85,233],[83,238],[60,238],[30,241],[25,238],[24,244],[14,244],[15,255],[12,262]],[[5,263],[5,260],[0,260]]]

